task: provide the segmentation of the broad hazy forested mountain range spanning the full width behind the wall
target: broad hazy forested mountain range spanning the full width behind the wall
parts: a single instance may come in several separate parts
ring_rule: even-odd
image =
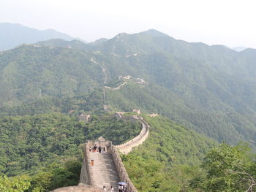
[[[154,29],[96,45],[53,39],[1,53],[0,101],[8,108],[71,97],[85,103],[74,104],[75,110],[139,108],[219,142],[256,145],[255,58],[253,49],[188,43]],[[121,76],[131,79],[119,89],[106,88],[104,103],[102,88],[121,85]],[[83,93],[86,99],[79,98]]]

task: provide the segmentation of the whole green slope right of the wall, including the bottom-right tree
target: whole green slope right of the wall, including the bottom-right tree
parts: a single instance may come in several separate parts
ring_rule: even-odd
[[[255,188],[255,153],[212,141],[167,118],[146,118],[150,137],[123,155],[138,191],[222,192]]]

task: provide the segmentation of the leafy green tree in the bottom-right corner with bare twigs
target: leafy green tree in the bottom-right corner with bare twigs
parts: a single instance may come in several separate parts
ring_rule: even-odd
[[[190,182],[195,191],[252,191],[256,185],[255,154],[246,145],[222,143],[208,152],[202,167],[206,177]]]

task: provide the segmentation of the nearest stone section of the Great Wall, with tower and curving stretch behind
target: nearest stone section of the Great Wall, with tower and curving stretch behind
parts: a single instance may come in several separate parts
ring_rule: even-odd
[[[120,115],[120,118],[124,118],[120,112],[117,114]],[[127,183],[127,191],[137,192],[137,189],[129,179],[129,175],[121,161],[120,153],[127,154],[133,147],[142,144],[148,137],[149,126],[143,118],[140,118],[137,115],[133,115],[129,118],[140,120],[140,123],[142,124],[142,129],[137,137],[124,144],[116,146],[113,145],[111,141],[105,140],[103,137],[99,137],[99,139],[95,141],[88,141],[85,144],[80,183],[98,188],[102,188],[103,186],[110,188],[110,185],[112,185],[115,188],[115,191],[117,191],[117,183],[122,181]],[[89,147],[93,147],[94,145],[104,148],[104,153],[89,152]]]

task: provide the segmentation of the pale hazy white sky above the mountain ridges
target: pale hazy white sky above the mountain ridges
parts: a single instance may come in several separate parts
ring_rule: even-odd
[[[253,0],[0,0],[0,22],[88,42],[154,28],[188,42],[256,48],[255,10]]]

